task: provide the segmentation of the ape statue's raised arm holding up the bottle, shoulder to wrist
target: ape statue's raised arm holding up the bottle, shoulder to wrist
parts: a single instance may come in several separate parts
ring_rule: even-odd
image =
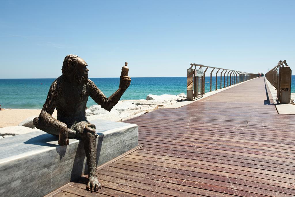
[[[90,88],[90,97],[99,105],[101,105],[102,108],[111,111],[112,108],[118,103],[121,96],[125,92],[126,89],[119,88],[114,94],[112,94],[109,98],[104,95],[98,89],[98,87],[92,82],[91,80],[88,80],[88,85]]]

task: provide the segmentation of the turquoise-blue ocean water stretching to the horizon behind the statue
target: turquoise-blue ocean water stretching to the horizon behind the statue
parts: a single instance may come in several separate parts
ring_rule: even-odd
[[[119,87],[119,78],[90,78],[109,97]],[[226,77],[227,79],[227,77]],[[41,109],[51,83],[55,79],[0,79],[1,108]],[[225,81],[227,85],[227,80]],[[222,78],[222,87],[224,78]],[[212,77],[212,90],[216,88],[216,78]],[[220,88],[220,76],[217,77]],[[210,91],[210,77],[205,77],[205,92]],[[186,93],[186,77],[132,77],[130,87],[121,100],[145,99],[148,94],[178,95]],[[291,92],[295,92],[295,76],[291,79]],[[89,97],[87,107],[96,103]]]

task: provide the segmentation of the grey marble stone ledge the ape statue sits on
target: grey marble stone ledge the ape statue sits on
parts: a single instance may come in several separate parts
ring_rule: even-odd
[[[96,125],[97,166],[138,146],[135,124],[93,120]],[[36,131],[0,141],[0,196],[44,196],[87,173],[83,142]]]

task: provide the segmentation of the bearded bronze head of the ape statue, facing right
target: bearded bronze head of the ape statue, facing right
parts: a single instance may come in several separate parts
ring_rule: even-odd
[[[76,55],[68,55],[63,61],[63,68],[61,71],[64,75],[74,79],[78,83],[87,83],[88,69],[87,63]]]

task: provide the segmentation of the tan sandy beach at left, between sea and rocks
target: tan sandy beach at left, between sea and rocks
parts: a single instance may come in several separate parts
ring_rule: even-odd
[[[6,126],[17,126],[26,118],[31,116],[39,116],[41,109],[7,109],[0,111],[0,128]],[[53,116],[57,116],[56,110]]]

